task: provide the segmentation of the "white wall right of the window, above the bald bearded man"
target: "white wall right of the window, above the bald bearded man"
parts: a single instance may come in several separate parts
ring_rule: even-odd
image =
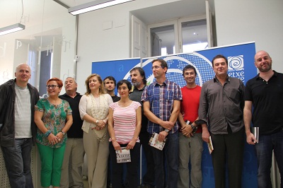
[[[214,0],[214,3],[218,46],[255,41],[256,51],[269,52],[272,68],[283,72],[283,1]]]

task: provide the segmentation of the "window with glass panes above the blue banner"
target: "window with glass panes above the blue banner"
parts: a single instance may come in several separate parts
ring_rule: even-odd
[[[208,47],[206,16],[148,25],[149,56],[193,52]]]

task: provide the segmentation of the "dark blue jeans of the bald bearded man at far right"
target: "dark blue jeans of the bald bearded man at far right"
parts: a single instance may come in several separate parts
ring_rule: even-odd
[[[259,137],[255,144],[255,151],[258,158],[258,188],[272,187],[270,179],[270,168],[272,165],[272,151],[281,175],[281,188],[283,187],[283,130],[269,135]]]

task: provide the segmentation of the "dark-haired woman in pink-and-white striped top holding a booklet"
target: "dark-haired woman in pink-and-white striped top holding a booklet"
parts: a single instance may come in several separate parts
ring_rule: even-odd
[[[139,131],[141,130],[141,105],[129,100],[132,85],[127,80],[117,83],[120,100],[109,107],[108,131],[110,134],[110,157],[112,160],[112,187],[122,187],[123,163],[117,163],[116,151],[122,147],[130,151],[127,163],[127,186],[138,187],[139,177]]]

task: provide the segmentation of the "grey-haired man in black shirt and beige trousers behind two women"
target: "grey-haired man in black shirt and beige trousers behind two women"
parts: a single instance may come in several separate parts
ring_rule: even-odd
[[[81,126],[83,121],[79,114],[79,101],[81,100],[80,93],[76,92],[77,83],[74,78],[68,77],[64,83],[66,93],[60,95],[59,98],[67,100],[71,106],[73,124],[67,132],[67,143],[64,153],[64,160],[62,165],[62,175],[60,187],[83,187],[82,181],[82,165],[83,165],[83,130]],[[71,158],[71,180],[69,180],[69,161]]]

